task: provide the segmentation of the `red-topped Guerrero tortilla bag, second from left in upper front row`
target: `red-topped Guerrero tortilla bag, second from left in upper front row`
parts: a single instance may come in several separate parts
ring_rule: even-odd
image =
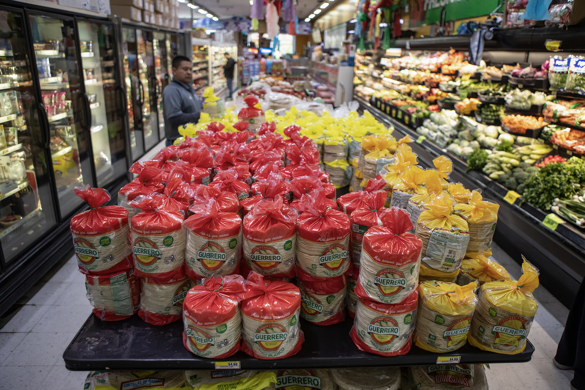
[[[132,217],[132,250],[136,276],[178,279],[185,272],[183,214],[160,210],[157,197],[147,196],[130,205],[142,213]]]

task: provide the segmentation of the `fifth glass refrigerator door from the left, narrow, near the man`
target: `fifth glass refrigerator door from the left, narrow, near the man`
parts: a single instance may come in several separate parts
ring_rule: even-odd
[[[138,43],[138,77],[142,88],[144,150],[150,150],[150,148],[159,143],[153,33],[151,31],[136,30],[136,41]]]

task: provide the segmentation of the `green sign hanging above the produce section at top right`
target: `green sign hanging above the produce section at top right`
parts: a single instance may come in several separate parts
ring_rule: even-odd
[[[441,12],[446,9],[445,20],[459,20],[489,15],[501,0],[424,0],[425,23],[441,22]],[[502,11],[501,8],[498,11]]]

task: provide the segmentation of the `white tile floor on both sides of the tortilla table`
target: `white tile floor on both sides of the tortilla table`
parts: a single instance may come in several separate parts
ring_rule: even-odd
[[[494,259],[517,279],[520,266],[500,248]],[[491,364],[490,390],[569,389],[572,371],[552,364],[567,310],[543,287],[529,340],[536,351],[528,363]],[[82,389],[87,372],[67,371],[61,355],[91,312],[84,277],[73,254],[55,266],[19,301],[20,307],[0,320],[0,389]],[[554,315],[552,314],[554,313]]]

